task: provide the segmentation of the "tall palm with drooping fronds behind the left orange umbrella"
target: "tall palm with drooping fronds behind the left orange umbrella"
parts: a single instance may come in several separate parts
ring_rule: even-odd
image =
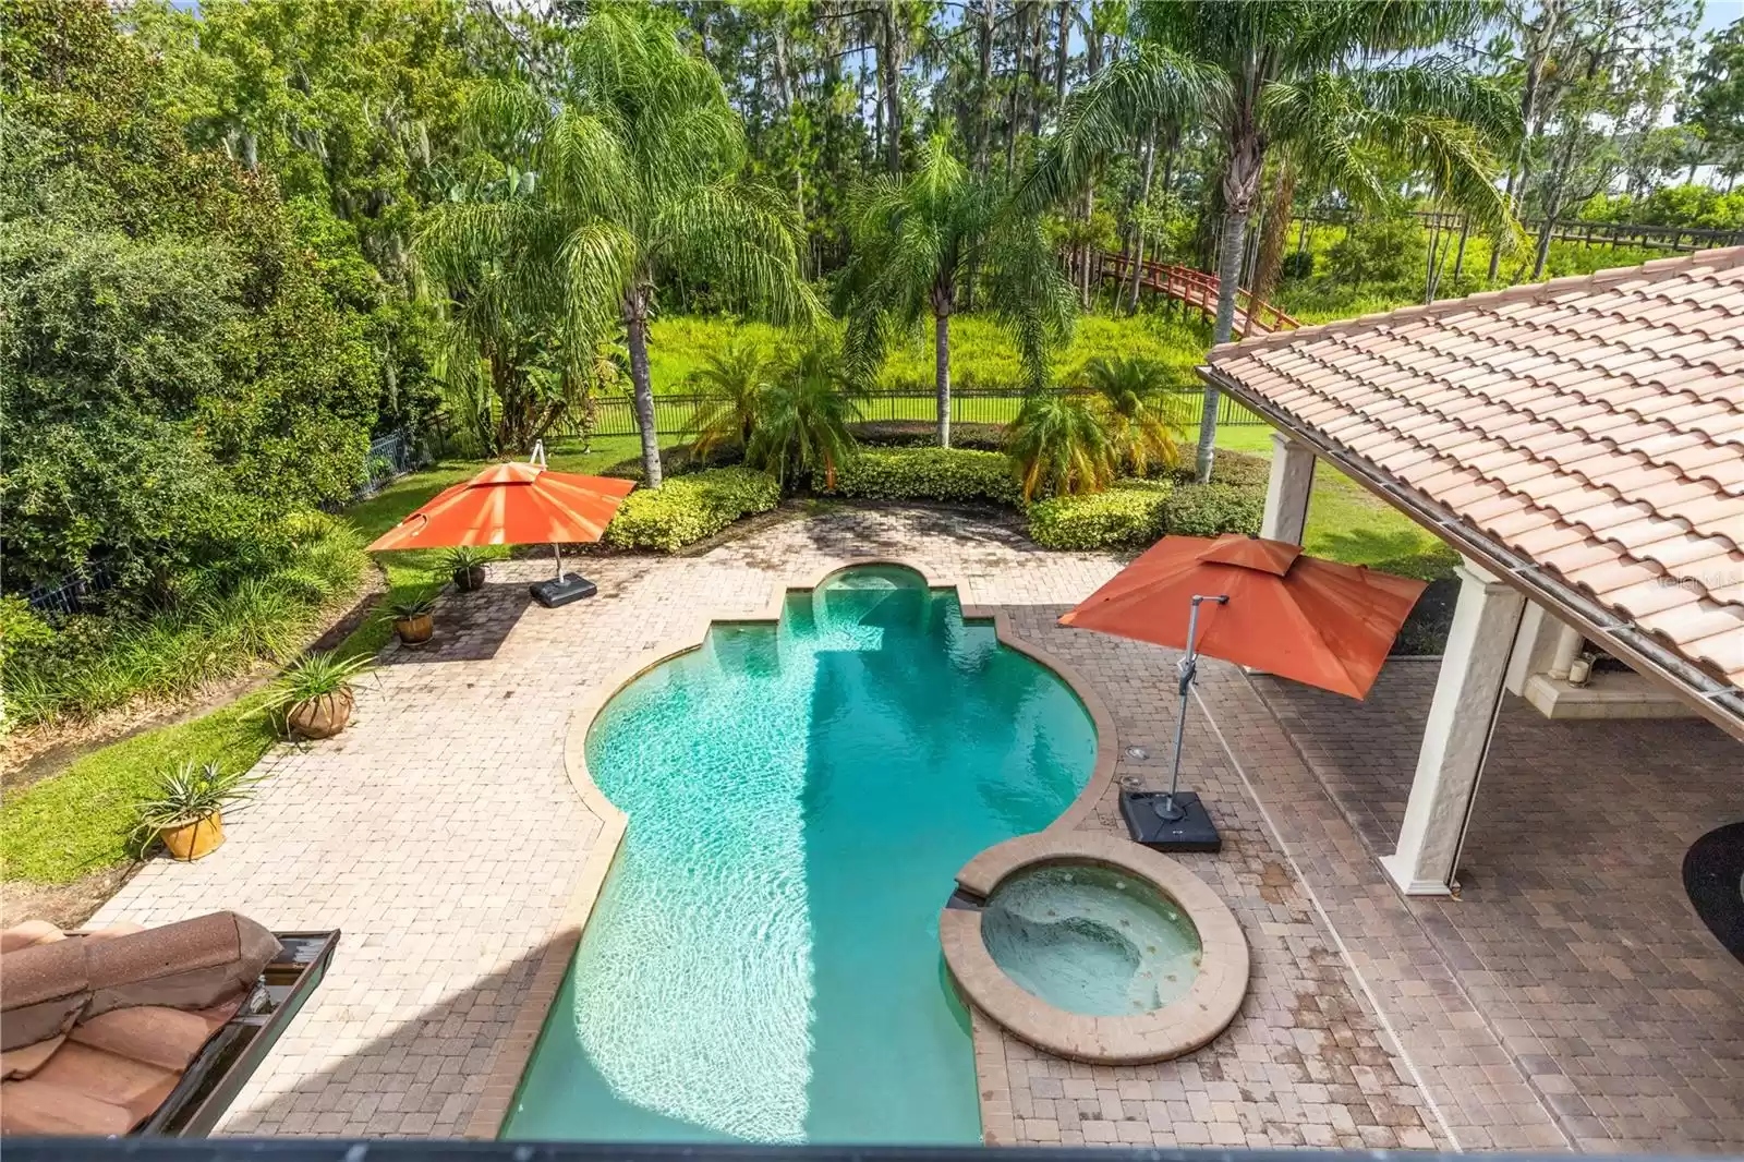
[[[464,255],[501,263],[509,281],[542,283],[565,345],[624,326],[644,480],[657,489],[647,344],[659,283],[703,270],[727,298],[781,323],[809,323],[820,307],[799,274],[790,202],[743,178],[745,126],[713,68],[637,5],[589,7],[569,35],[560,99],[497,82],[467,103],[473,166],[495,164],[516,195],[462,190],[424,243],[445,269]],[[521,330],[514,316],[495,323]]]

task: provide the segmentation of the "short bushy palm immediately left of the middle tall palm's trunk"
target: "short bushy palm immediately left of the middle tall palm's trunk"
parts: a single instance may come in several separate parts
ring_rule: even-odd
[[[835,344],[814,338],[781,366],[757,394],[757,422],[745,462],[771,471],[787,485],[799,473],[823,473],[835,487],[835,469],[855,454],[848,424],[860,417]]]

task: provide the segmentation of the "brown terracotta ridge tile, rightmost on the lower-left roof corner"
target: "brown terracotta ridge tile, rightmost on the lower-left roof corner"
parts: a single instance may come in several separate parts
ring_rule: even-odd
[[[253,986],[279,951],[270,932],[235,913],[78,944],[91,981],[87,1019],[133,1005],[218,1005]]]

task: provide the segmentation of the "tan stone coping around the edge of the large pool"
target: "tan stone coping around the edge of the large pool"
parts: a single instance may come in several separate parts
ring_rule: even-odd
[[[497,1042],[495,1056],[485,1071],[483,1092],[480,1094],[478,1104],[473,1108],[471,1118],[466,1122],[462,1138],[495,1139],[497,1134],[502,1132],[502,1124],[508,1120],[509,1108],[514,1104],[514,1090],[520,1089],[521,1075],[527,1071],[527,1064],[534,1054],[534,1045],[539,1042],[539,1033],[544,1029],[546,1017],[551,1012],[551,1003],[556,1000],[558,989],[563,984],[563,974],[569,970],[569,963],[576,956],[576,947],[581,944],[581,935],[588,926],[588,919],[593,916],[593,907],[598,904],[600,892],[605,888],[605,878],[612,871],[612,864],[617,858],[617,851],[624,841],[624,832],[630,825],[630,817],[605,797],[605,792],[598,789],[593,782],[593,775],[588,771],[588,731],[593,728],[593,721],[600,717],[600,712],[612,698],[617,696],[621,689],[635,682],[649,670],[694,649],[701,649],[712,625],[778,623],[781,619],[781,611],[787,605],[788,593],[795,590],[816,590],[837,572],[863,565],[895,565],[917,574],[931,590],[956,590],[964,621],[991,621],[994,637],[1001,646],[1015,649],[1038,665],[1053,670],[1053,673],[1066,682],[1066,687],[1076,694],[1078,701],[1090,715],[1090,721],[1095,724],[1095,761],[1090,766],[1090,776],[1085,780],[1083,790],[1080,790],[1071,806],[1067,806],[1045,829],[1031,832],[1029,836],[1017,836],[1017,839],[1064,836],[1088,818],[1092,811],[1095,811],[1097,803],[1114,782],[1114,762],[1120,755],[1114,715],[1109,714],[1102,700],[1071,663],[1017,637],[1005,611],[994,605],[968,604],[964,600],[966,583],[963,579],[933,576],[926,569],[896,557],[846,557],[813,571],[809,574],[809,581],[774,581],[769,600],[757,612],[698,614],[692,618],[687,630],[671,635],[659,646],[644,651],[614,670],[603,682],[600,682],[598,687],[595,687],[593,693],[581,700],[576,710],[570,712],[569,733],[563,740],[563,771],[569,776],[570,787],[574,787],[576,794],[581,797],[582,806],[600,817],[600,834],[581,867],[576,890],[570,893],[569,904],[563,909],[563,918],[556,923],[551,937],[546,940],[544,954],[534,970],[527,993],[516,1007],[514,1021],[511,1022],[508,1035]],[[1010,839],[1006,843],[1015,843],[1017,839]],[[1073,841],[1076,841],[1076,837],[1073,837]],[[989,848],[989,851],[994,850],[998,850],[998,846]],[[978,858],[980,857],[977,857],[977,860]],[[970,862],[970,865],[973,864],[975,860]],[[944,888],[945,885],[940,885],[940,893],[944,893]],[[977,942],[978,940],[980,935],[977,925]],[[1247,946],[1243,944],[1243,956],[1245,947]],[[1005,974],[1001,974],[1001,977],[1003,975]],[[989,1077],[992,1054],[984,1054],[982,1049],[984,1036],[980,1035],[980,1026],[984,1021],[985,1017],[982,1014],[975,1014],[975,1073],[978,1089],[982,1090],[982,1131],[987,1141],[1010,1141],[1010,1103],[1006,1101],[1003,1115],[998,1110],[987,1108],[987,1090],[992,1089],[991,1082],[994,1078]],[[999,1070],[1003,1071],[1003,1063],[999,1064]],[[1010,1089],[1003,1087],[1003,1092],[1008,1096]]]

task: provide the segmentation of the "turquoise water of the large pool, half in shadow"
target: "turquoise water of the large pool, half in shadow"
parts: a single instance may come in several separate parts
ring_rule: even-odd
[[[630,829],[504,1136],[980,1141],[938,911],[1093,757],[1071,689],[912,571],[717,623],[588,735]]]

